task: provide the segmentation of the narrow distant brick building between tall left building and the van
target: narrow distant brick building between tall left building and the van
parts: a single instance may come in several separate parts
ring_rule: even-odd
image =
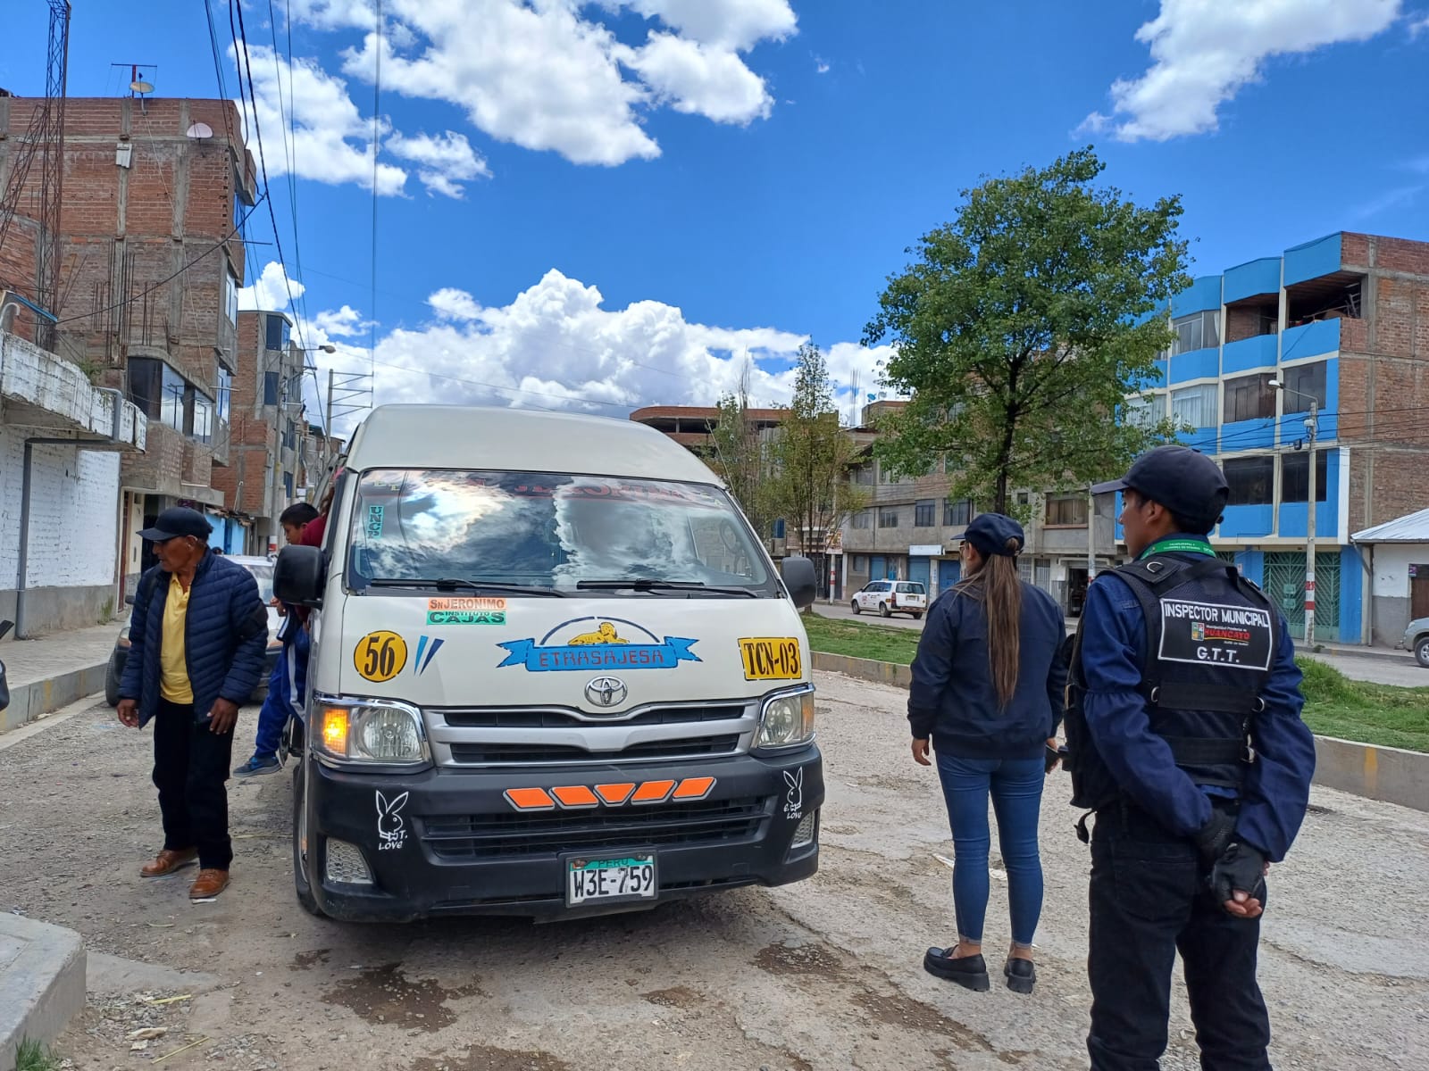
[[[279,517],[302,501],[309,424],[303,417],[303,350],[284,313],[239,313],[229,461],[213,486],[249,528],[234,553],[267,554],[283,545]]]

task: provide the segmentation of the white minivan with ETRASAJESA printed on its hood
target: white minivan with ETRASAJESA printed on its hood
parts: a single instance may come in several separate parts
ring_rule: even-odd
[[[383,406],[342,461],[310,605],[300,902],[342,920],[629,911],[809,877],[806,558],[630,421]]]

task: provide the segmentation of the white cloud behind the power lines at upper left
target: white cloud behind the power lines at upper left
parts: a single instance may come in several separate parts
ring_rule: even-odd
[[[299,59],[289,66],[287,60],[263,46],[249,46],[249,57],[269,177],[289,171],[283,137],[286,123],[279,107],[282,93],[282,103],[294,123],[293,173],[333,186],[357,183],[370,190],[372,119],[363,119],[357,111],[347,94],[347,84],[324,71],[314,60]],[[257,156],[252,116],[247,129],[249,146]],[[406,181],[407,173],[403,169],[379,161],[377,193],[400,194]]]

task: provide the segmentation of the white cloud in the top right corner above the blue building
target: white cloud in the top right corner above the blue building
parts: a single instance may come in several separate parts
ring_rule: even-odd
[[[1136,31],[1152,67],[1112,84],[1112,114],[1083,129],[1112,127],[1122,141],[1165,141],[1218,127],[1216,110],[1258,81],[1272,56],[1365,41],[1399,17],[1402,0],[1162,0]]]

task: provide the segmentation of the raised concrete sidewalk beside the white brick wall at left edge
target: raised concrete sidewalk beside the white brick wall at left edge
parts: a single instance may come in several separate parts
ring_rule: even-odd
[[[104,670],[120,627],[116,621],[0,644],[0,661],[10,683],[10,705],[0,711],[0,733],[104,691]]]

